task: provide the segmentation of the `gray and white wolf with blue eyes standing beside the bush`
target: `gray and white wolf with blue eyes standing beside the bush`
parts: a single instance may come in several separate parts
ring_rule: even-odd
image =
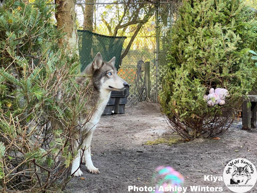
[[[115,57],[113,57],[109,62],[104,62],[101,54],[98,52],[93,62],[89,64],[81,73],[81,75],[92,75],[88,86],[92,88],[93,92],[91,96],[88,97],[88,103],[85,108],[95,110],[83,117],[86,124],[84,124],[80,132],[77,132],[77,135],[72,141],[73,151],[76,152],[77,150],[78,152],[72,162],[71,168],[71,174],[73,174],[75,177],[83,175],[79,169],[81,156],[83,156],[82,163],[85,163],[89,173],[99,173],[98,168],[93,165],[91,160],[90,143],[93,131],[95,130],[100,116],[102,115],[105,106],[109,101],[111,91],[121,91],[128,86],[128,83],[117,75],[114,64]],[[76,81],[79,84],[83,84],[86,81],[86,78],[81,76]],[[81,149],[79,150],[78,139],[80,137],[82,137],[82,145]]]

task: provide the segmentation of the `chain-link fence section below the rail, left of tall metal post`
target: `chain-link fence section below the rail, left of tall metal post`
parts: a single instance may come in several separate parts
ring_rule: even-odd
[[[130,41],[128,37],[123,45],[125,49],[127,43]],[[130,87],[130,96],[128,96],[128,104],[133,105],[137,102],[142,102],[146,99],[145,88],[145,62],[150,62],[150,80],[151,80],[151,97],[150,100],[154,101],[154,85],[155,85],[155,65],[154,65],[154,48],[155,37],[136,37],[133,41],[131,49],[123,58],[118,74]],[[124,51],[123,49],[123,51]],[[140,62],[140,61],[143,61]],[[143,65],[143,68],[142,68]]]

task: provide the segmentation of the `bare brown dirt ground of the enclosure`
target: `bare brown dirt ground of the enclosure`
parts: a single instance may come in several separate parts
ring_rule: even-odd
[[[100,174],[89,174],[82,165],[85,180],[73,178],[67,191],[125,193],[129,185],[154,186],[153,171],[164,165],[184,176],[184,186],[220,186],[223,192],[231,192],[223,181],[204,181],[204,175],[223,176],[225,165],[237,157],[257,166],[257,129],[243,131],[240,120],[219,140],[199,138],[171,146],[144,144],[164,134],[172,131],[154,103],[127,107],[122,115],[102,116],[91,144],[92,161]],[[248,192],[257,192],[257,185]]]

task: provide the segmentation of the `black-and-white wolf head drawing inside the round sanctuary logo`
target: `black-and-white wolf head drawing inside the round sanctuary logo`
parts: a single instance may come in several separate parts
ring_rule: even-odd
[[[230,184],[246,184],[248,180],[251,179],[251,175],[248,172],[248,166],[236,167],[234,165],[234,172],[232,173],[232,178],[230,179]]]

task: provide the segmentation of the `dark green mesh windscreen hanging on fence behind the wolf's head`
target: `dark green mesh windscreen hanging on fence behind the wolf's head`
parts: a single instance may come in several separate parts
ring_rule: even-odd
[[[103,60],[107,62],[115,56],[115,67],[118,69],[125,38],[124,36],[104,36],[87,30],[78,30],[81,72],[93,61],[97,52],[100,52]]]

